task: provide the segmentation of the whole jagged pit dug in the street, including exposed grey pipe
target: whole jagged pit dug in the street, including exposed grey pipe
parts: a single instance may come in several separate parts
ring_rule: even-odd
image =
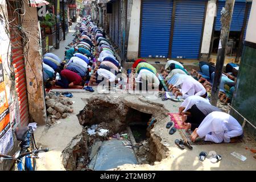
[[[77,114],[82,133],[73,138],[62,154],[67,170],[154,165],[167,157],[168,148],[152,131],[168,117],[162,105],[110,96],[94,96],[86,101],[84,109]],[[152,118],[154,122],[150,122]]]

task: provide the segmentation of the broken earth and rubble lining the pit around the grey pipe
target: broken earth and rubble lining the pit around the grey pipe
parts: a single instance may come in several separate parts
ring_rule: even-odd
[[[144,113],[145,110],[147,113]],[[80,140],[75,146],[67,147],[63,151],[64,167],[67,170],[79,171],[93,169],[90,162],[96,160],[102,143],[112,139],[122,140],[125,147],[133,148],[138,164],[153,165],[155,161],[167,157],[168,148],[152,134],[151,129],[154,126],[147,127],[148,118],[161,121],[160,118],[165,113],[167,112],[162,106],[150,103],[134,104],[122,98],[114,100],[100,96],[89,98],[84,109],[77,114],[80,125],[84,126]],[[136,142],[129,123],[133,126],[144,123],[146,138]]]

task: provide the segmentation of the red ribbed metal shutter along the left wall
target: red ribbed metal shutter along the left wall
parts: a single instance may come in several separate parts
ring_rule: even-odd
[[[13,14],[13,11],[14,10],[8,9],[8,16],[9,19],[15,18],[13,23],[16,24],[18,17],[14,17],[15,15]],[[24,126],[28,124],[29,112],[22,37],[20,36],[20,32],[18,32],[17,28],[13,28],[14,26],[12,26],[12,24],[10,25],[12,59],[11,64],[13,64],[15,73],[15,87],[19,100],[20,124]]]

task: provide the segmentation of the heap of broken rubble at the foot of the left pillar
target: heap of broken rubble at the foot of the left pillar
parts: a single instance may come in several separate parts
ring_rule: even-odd
[[[60,94],[49,92],[46,94],[47,126],[56,123],[60,118],[67,118],[73,113],[73,102]]]

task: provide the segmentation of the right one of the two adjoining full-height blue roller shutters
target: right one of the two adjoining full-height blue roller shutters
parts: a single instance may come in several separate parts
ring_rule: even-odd
[[[205,1],[177,1],[171,57],[198,59],[205,14]]]

